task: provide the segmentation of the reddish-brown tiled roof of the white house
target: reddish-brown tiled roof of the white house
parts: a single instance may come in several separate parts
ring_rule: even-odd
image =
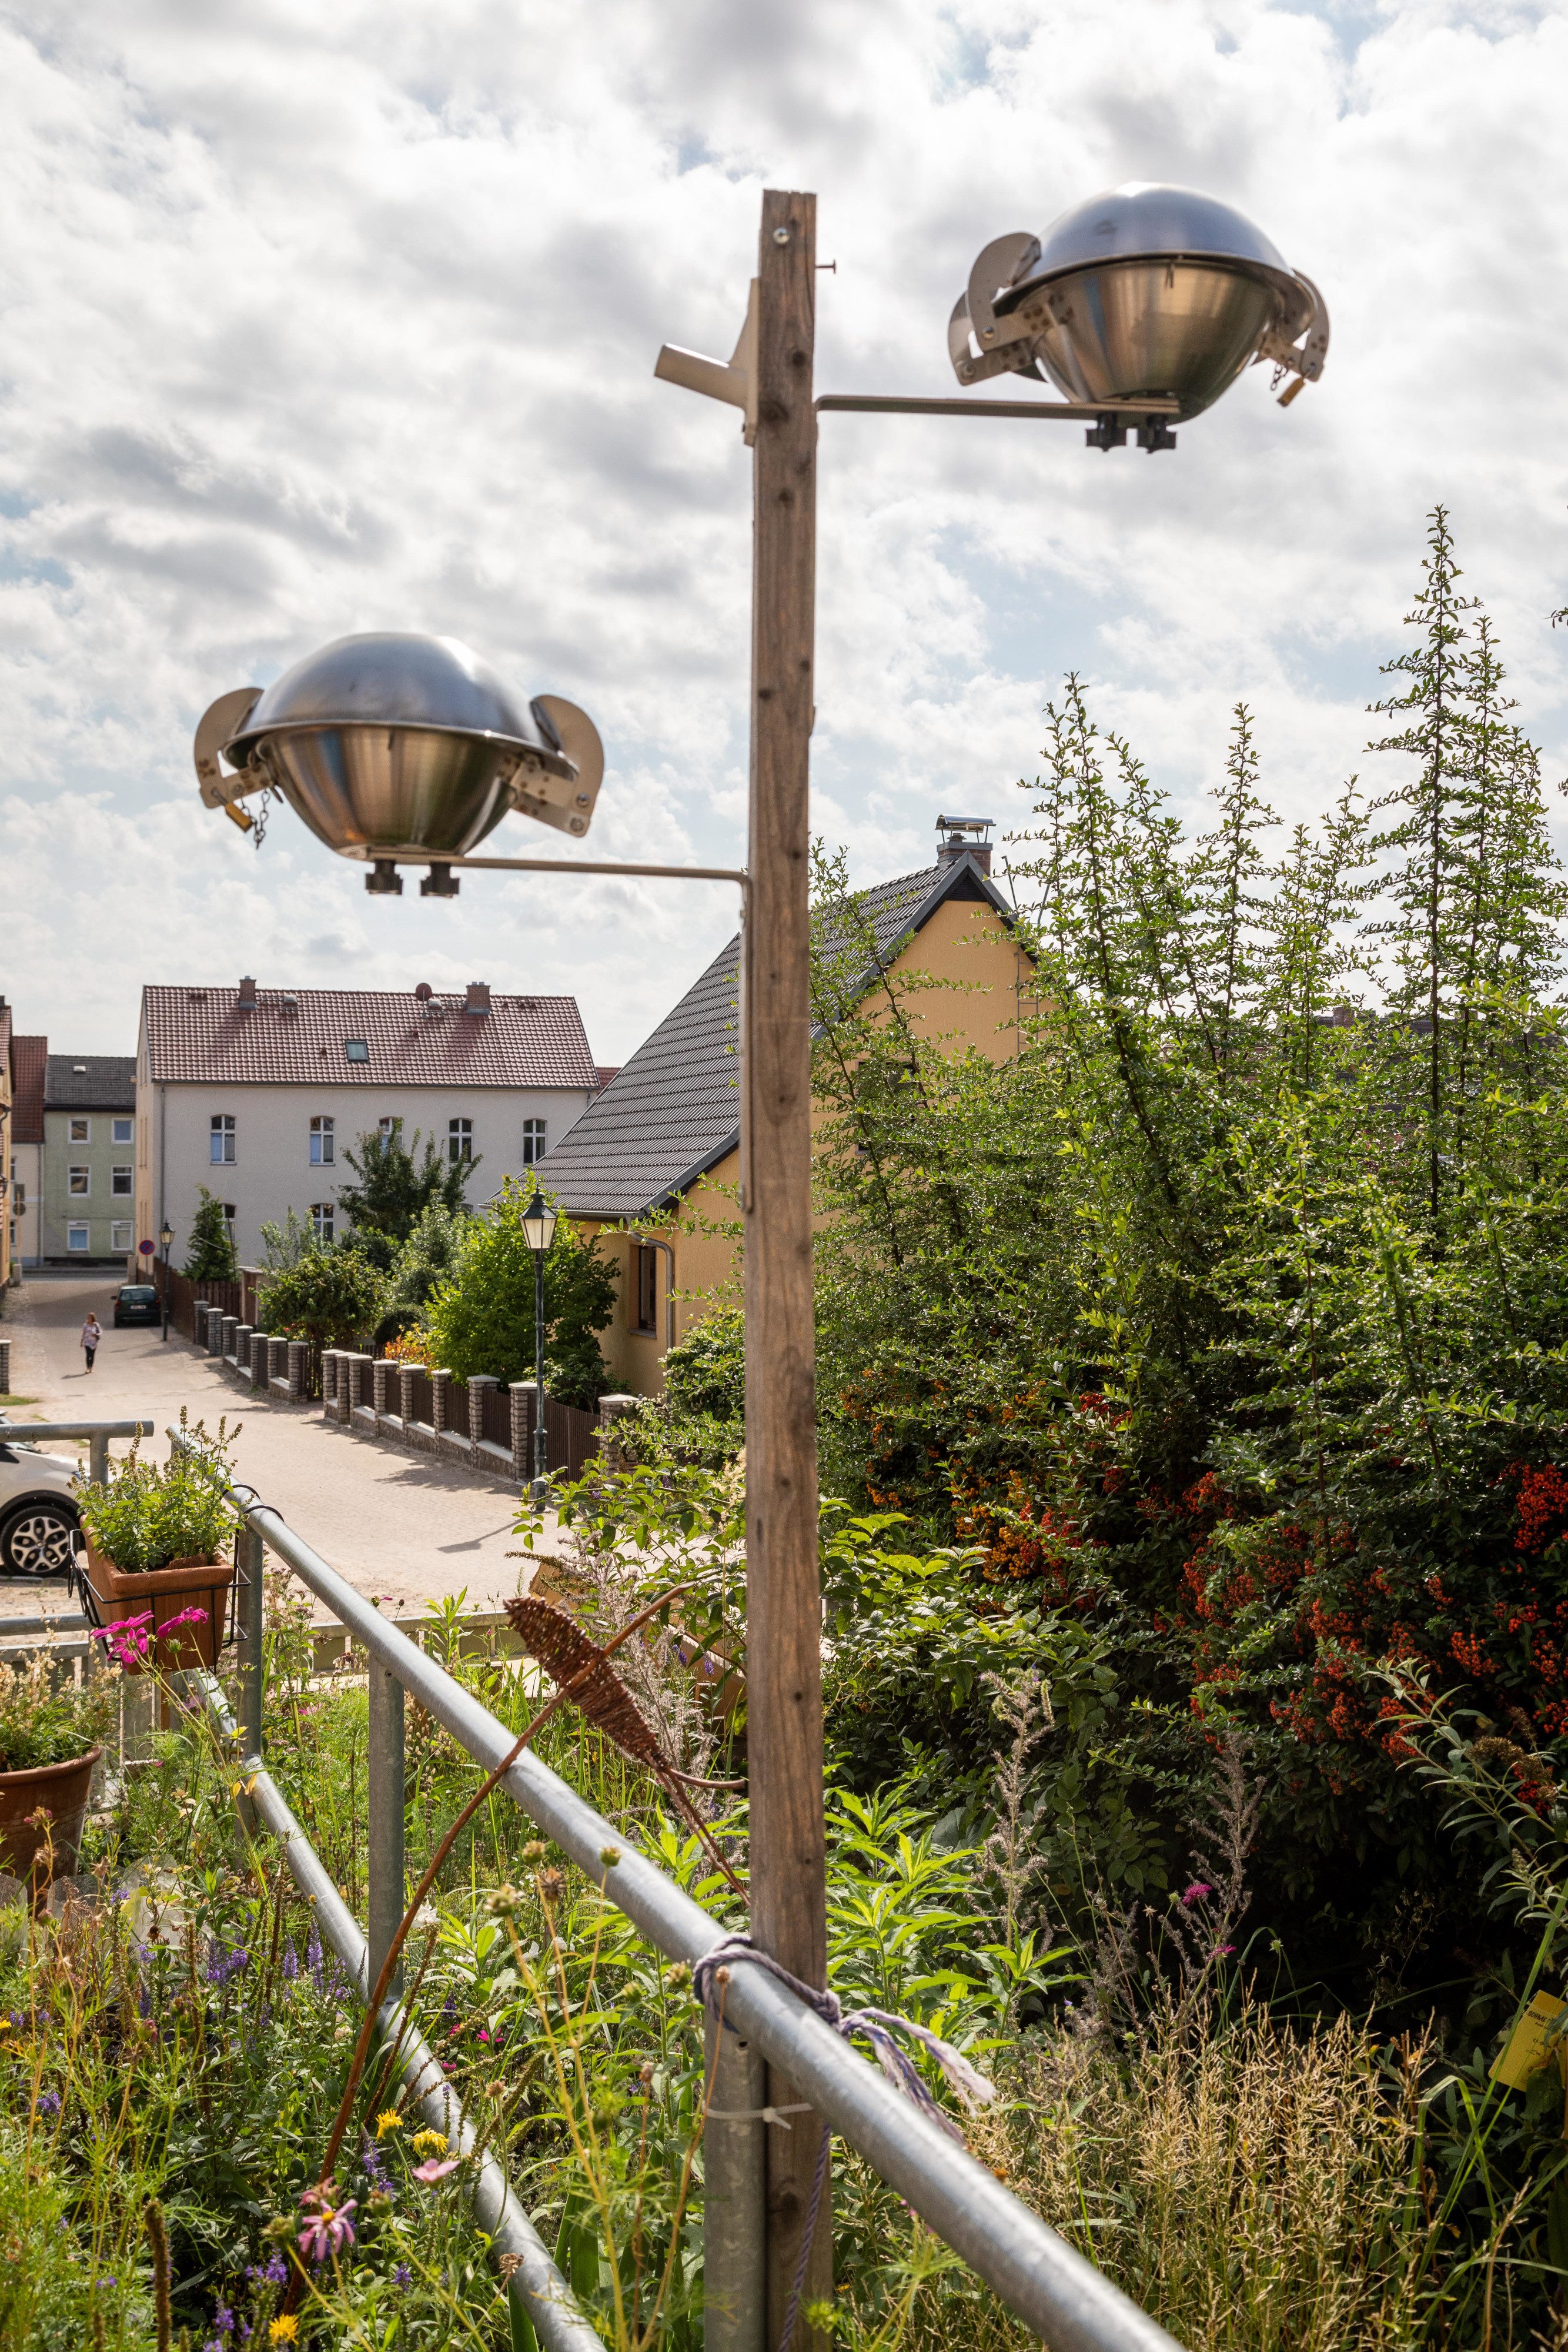
[[[240,1011],[237,988],[143,988],[153,1084],[571,1087],[592,1094],[576,997],[421,1002],[404,988],[263,988]],[[367,1061],[348,1061],[348,1040]]]

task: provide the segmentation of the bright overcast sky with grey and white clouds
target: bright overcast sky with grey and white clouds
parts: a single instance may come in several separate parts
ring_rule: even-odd
[[[938,809],[1016,823],[1039,708],[1199,809],[1363,760],[1446,501],[1521,717],[1568,764],[1568,19],[1253,0],[68,0],[0,7],[0,993],[132,1051],[143,981],[576,993],[621,1061],[733,927],[722,884],[367,898],[190,731],[348,630],[468,640],[599,720],[592,849],[741,861],[750,459],[654,383],[729,355],[764,186],[818,191],[818,388],[952,393],[1001,230],[1124,179],[1241,205],[1326,292],[1175,454],[823,419],[816,826],[858,880]],[[1382,771],[1387,783],[1387,764]],[[491,849],[555,835],[508,818]]]

